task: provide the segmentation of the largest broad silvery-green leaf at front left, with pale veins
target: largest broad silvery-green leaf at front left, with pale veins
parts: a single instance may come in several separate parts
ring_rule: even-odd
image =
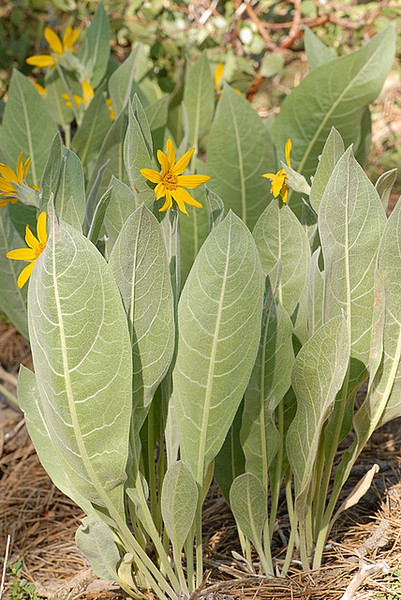
[[[104,506],[126,479],[132,361],[127,319],[98,250],[51,215],[28,292],[43,415],[77,491]]]

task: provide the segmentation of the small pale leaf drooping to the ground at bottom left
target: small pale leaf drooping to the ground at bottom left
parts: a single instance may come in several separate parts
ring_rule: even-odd
[[[98,577],[116,580],[120,552],[111,529],[100,518],[84,517],[75,533],[75,543]]]

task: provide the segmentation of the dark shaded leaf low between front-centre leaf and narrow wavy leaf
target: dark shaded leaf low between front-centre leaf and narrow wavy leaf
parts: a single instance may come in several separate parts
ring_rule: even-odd
[[[243,408],[244,404],[241,402],[214,463],[214,478],[227,502],[230,501],[229,494],[232,482],[245,471],[245,456],[240,441]]]

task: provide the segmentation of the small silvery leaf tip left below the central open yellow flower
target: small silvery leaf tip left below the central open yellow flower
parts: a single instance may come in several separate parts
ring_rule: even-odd
[[[114,176],[111,178],[110,187],[111,197],[104,218],[104,226],[109,238],[109,247],[112,248],[125,221],[137,208],[137,202],[131,188]]]

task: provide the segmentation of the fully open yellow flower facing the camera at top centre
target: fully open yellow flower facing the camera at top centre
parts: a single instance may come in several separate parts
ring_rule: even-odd
[[[154,169],[141,169],[141,173],[146,179],[157,183],[155,187],[156,200],[166,197],[166,201],[159,212],[164,212],[172,207],[173,200],[178,205],[178,208],[188,215],[185,204],[190,206],[198,206],[202,208],[202,204],[197,202],[184,188],[193,189],[202,185],[210,179],[208,175],[182,175],[192,158],[195,148],[188,150],[182,158],[175,162],[175,153],[173,142],[169,138],[166,145],[166,154],[161,150],[157,151],[157,159],[161,165],[162,172],[158,173]]]

